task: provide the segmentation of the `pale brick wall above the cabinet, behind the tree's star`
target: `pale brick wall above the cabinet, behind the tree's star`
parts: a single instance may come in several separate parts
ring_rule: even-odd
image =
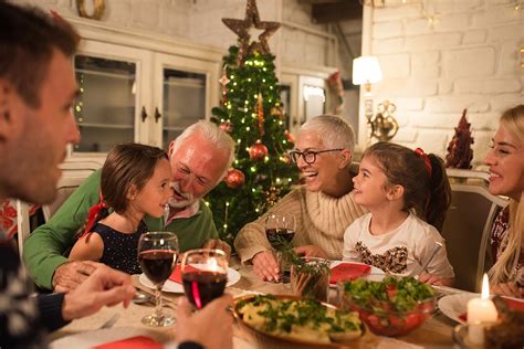
[[[53,9],[61,14],[76,17],[74,0],[14,0]],[[87,13],[92,0],[85,1]],[[227,49],[237,43],[237,35],[221,21],[222,18],[243,19],[245,0],[105,0],[101,20],[117,28],[129,28],[163,35],[184,38],[198,44]],[[296,23],[327,34],[326,25],[311,22],[311,6],[298,0],[259,0],[261,21]],[[259,35],[261,31],[253,34]],[[276,55],[276,64],[326,66],[326,38],[282,25],[269,43]]]

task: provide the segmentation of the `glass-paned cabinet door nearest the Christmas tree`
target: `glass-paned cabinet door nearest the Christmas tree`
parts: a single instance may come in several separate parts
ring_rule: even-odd
[[[211,117],[219,104],[218,71],[219,62],[156,54],[150,144],[167,149],[186,127]]]

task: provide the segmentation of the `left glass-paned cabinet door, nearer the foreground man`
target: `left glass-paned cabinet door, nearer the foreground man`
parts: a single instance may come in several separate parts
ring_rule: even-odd
[[[116,144],[148,141],[150,61],[145,50],[83,43],[74,57],[80,87],[74,114],[82,136],[74,154],[107,152]]]

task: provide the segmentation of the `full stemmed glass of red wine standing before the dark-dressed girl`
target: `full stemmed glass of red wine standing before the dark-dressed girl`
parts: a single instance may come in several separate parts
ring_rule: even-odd
[[[178,258],[178,239],[171,232],[148,232],[138,241],[138,262],[147,278],[155,284],[155,313],[145,316],[142,322],[148,326],[165,327],[175,324],[171,315],[165,314],[161,306],[161,288]]]

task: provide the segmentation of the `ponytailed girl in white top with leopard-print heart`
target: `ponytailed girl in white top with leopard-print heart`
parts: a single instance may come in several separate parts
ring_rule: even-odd
[[[453,268],[437,230],[451,198],[442,160],[420,148],[378,142],[365,151],[353,181],[355,202],[370,212],[346,230],[344,260],[387,273],[416,273],[428,284],[451,285]],[[437,242],[443,247],[433,256]]]

